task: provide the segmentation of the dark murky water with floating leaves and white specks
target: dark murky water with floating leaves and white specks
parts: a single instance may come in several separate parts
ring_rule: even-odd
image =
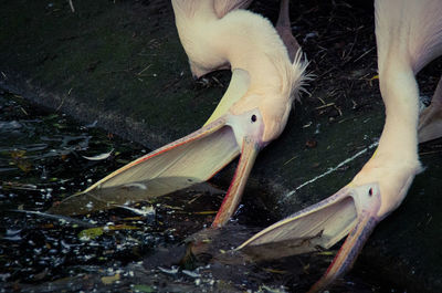
[[[204,229],[223,197],[209,185],[76,217],[48,213],[147,150],[4,92],[0,135],[3,292],[303,292],[334,257],[256,262],[232,252],[275,219],[245,201],[225,229]],[[390,289],[357,268],[332,292]]]

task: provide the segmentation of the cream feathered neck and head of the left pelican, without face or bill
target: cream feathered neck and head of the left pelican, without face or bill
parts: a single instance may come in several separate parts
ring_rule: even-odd
[[[238,9],[220,19],[212,1],[175,0],[172,4],[192,72],[200,76],[229,65],[249,72],[249,91],[230,112],[265,109],[261,112],[264,140],[277,137],[304,82],[306,65],[301,51],[292,64],[272,23],[255,13]]]

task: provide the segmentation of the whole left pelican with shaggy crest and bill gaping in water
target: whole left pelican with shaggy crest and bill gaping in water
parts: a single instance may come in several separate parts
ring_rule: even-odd
[[[290,60],[269,20],[236,6],[222,8],[225,2],[219,1],[215,10],[217,2],[209,0],[172,0],[192,73],[200,76],[224,66],[232,71],[230,85],[208,122],[83,192],[143,187],[150,196],[165,195],[210,179],[241,154],[212,227],[229,220],[259,150],[284,129],[293,101],[307,79],[307,64],[297,49],[294,62]]]

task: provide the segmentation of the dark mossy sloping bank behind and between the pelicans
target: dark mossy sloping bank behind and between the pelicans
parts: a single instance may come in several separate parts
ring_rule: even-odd
[[[62,0],[0,1],[0,86],[148,148],[203,124],[230,73],[192,81],[168,1],[73,3],[75,13]],[[277,8],[255,1],[251,9],[275,20]],[[316,77],[283,135],[260,154],[248,186],[245,200],[272,219],[347,184],[373,149],[284,197],[371,145],[383,123],[372,2],[293,1],[291,18]],[[441,69],[439,60],[419,75],[422,95],[431,96]],[[422,147],[427,170],[356,263],[408,292],[442,291],[440,154],[440,140]],[[232,167],[215,180],[225,185],[231,175]]]

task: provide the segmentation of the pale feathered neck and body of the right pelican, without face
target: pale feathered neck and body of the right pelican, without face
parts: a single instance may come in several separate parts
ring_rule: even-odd
[[[378,149],[354,184],[377,181],[382,205],[379,217],[398,207],[415,174],[419,88],[414,75],[442,54],[441,0],[377,0],[376,41],[386,124]]]

